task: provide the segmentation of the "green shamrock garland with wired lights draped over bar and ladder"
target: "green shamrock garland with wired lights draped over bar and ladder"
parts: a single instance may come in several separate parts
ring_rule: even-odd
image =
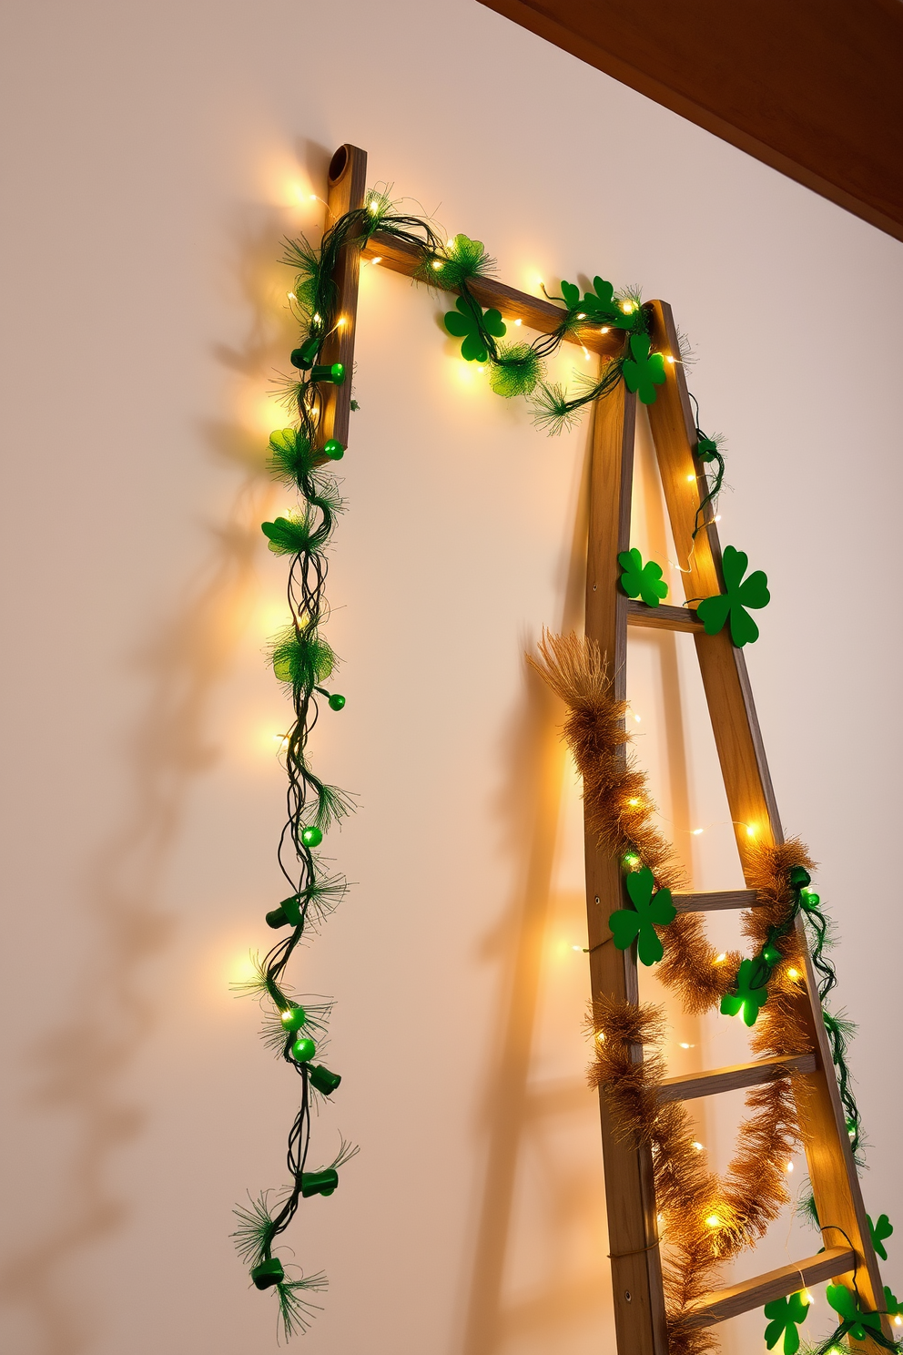
[[[341,251],[363,249],[378,233],[380,238],[390,238],[417,251],[417,280],[432,289],[458,293],[455,309],[445,314],[444,324],[447,332],[460,340],[462,358],[487,373],[489,385],[498,396],[527,398],[533,423],[547,432],[559,434],[573,427],[592,404],[613,392],[620,382],[643,404],[653,404],[666,381],[666,364],[676,360],[674,355],[653,350],[650,312],[639,291],[616,291],[612,283],[600,276],[593,279],[592,287],[583,290],[575,283],[560,283],[560,295],[550,298],[560,305],[560,318],[551,333],[540,335],[529,343],[520,333],[512,339],[500,312],[491,308],[485,310],[474,295],[472,283],[491,275],[494,270],[494,262],[483,244],[464,234],[447,237],[429,218],[403,211],[402,205],[393,201],[382,187],[367,192],[363,207],[338,217],[324,232],[318,247],[303,236],[286,241],[283,262],[294,271],[294,287],[288,297],[299,336],[290,354],[292,373],[282,379],[278,392],[290,412],[291,423],[271,435],[269,469],[275,478],[296,492],[298,501],[286,516],[263,523],[263,533],[271,551],[288,557],[286,598],[290,623],[271,645],[273,673],[284,686],[292,706],[292,724],[282,740],[288,786],[287,817],[278,846],[279,869],[288,885],[288,894],[265,916],[271,928],[288,931],[256,963],[253,978],[240,988],[260,999],[264,1008],[264,1039],[299,1079],[301,1095],[287,1141],[290,1186],[284,1191],[263,1191],[248,1206],[238,1207],[238,1225],[233,1234],[236,1247],[250,1270],[252,1283],[276,1294],[279,1321],[286,1337],[307,1329],[317,1310],[313,1295],[325,1289],[326,1279],[322,1272],[305,1274],[291,1267],[275,1255],[273,1248],[302,1202],[329,1196],[336,1191],[340,1168],[357,1152],[341,1140],[332,1161],[314,1169],[309,1167],[311,1107],[318,1098],[330,1099],[337,1092],[341,1076],[318,1061],[332,1003],[295,995],[287,980],[287,969],[302,939],[326,921],[347,889],[345,879],[330,873],[320,848],[325,835],[340,824],[353,809],[353,804],[351,797],[325,783],[313,771],[307,753],[321,705],[332,713],[340,711],[345,705],[345,698],[326,686],[338,661],[324,635],[324,625],[329,615],[325,591],[328,550],[343,511],[333,467],[347,449],[337,439],[325,438],[322,415],[325,393],[330,386],[343,385],[349,373],[340,362],[324,362],[322,351],[328,339],[344,322],[334,282]],[[519,322],[514,324],[519,328]],[[578,374],[573,392],[551,382],[547,378],[547,359],[563,341],[579,343],[589,329],[620,335],[623,341],[617,354],[602,359],[597,374]],[[351,404],[352,409],[356,408],[353,401]],[[708,436],[700,427],[696,402],[693,409],[697,439],[695,451],[705,467],[693,530],[696,537],[712,520],[709,509],[723,484],[724,455],[723,439]],[[654,561],[643,562],[639,551],[631,550],[619,557],[619,562],[623,570],[620,587],[628,596],[639,598],[646,606],[658,606],[667,595],[662,569]],[[757,570],[745,577],[746,566],[747,558],[742,551],[726,547],[726,591],[699,600],[699,615],[707,633],[715,634],[730,626],[735,645],[758,637],[758,627],[749,608],[762,607],[769,600],[765,576]],[[625,804],[625,810],[630,817],[630,802]],[[615,943],[623,943],[624,947],[638,943],[639,958],[644,963],[655,963],[662,958],[659,930],[671,921],[667,916],[670,898],[663,897],[667,894],[665,889],[654,892],[653,873],[644,864],[642,852],[628,850],[623,859],[631,906],[612,915]],[[747,1024],[754,1024],[761,1007],[768,1001],[776,966],[781,963],[780,943],[793,930],[797,915],[806,917],[814,936],[812,958],[820,976],[820,996],[826,996],[834,986],[834,970],[824,957],[830,939],[829,927],[819,909],[818,894],[810,889],[810,883],[808,873],[800,867],[791,879],[792,905],[787,915],[765,938],[757,954],[739,962],[732,989],[722,1000],[726,1015],[739,1015]],[[850,1137],[860,1160],[860,1117],[846,1066],[850,1024],[843,1018],[826,1014],[826,1027],[839,1072]],[[876,1245],[879,1253],[885,1255],[883,1238],[892,1232],[885,1215],[881,1215],[876,1228],[879,1232],[884,1229]],[[856,1278],[853,1293],[843,1286],[829,1286],[827,1297],[839,1322],[831,1337],[818,1347],[819,1355],[833,1355],[834,1347],[846,1335],[854,1340],[861,1339],[857,1335],[861,1329],[868,1329],[868,1335],[879,1344],[898,1348],[896,1343],[888,1343],[883,1336],[880,1317],[862,1312]],[[896,1305],[889,1290],[885,1297],[887,1312],[899,1324],[903,1321],[903,1309]],[[800,1344],[797,1328],[806,1317],[808,1298],[808,1293],[801,1293],[766,1306],[769,1350],[783,1340],[784,1355],[795,1355]]]

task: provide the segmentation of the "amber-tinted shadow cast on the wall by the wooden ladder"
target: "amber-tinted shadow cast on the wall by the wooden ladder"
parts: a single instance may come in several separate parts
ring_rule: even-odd
[[[648,481],[650,467],[640,465]],[[562,630],[582,630],[586,577],[586,507],[589,491],[589,451],[579,489],[579,508],[567,561]],[[657,489],[661,499],[661,489]],[[661,504],[651,500],[651,534],[657,546],[665,547],[665,519]],[[686,748],[680,699],[680,672],[676,637],[654,637],[657,645],[663,715],[667,729],[666,752],[669,791],[678,822],[689,818]],[[542,1131],[543,1122],[560,1119],[586,1108],[586,1087],[577,1081],[559,1081],[548,1089],[531,1087],[531,1051],[535,1042],[540,999],[543,950],[547,940],[552,871],[562,810],[566,753],[560,740],[563,706],[548,691],[537,673],[527,672],[524,706],[513,722],[506,751],[510,776],[500,798],[500,813],[508,829],[508,846],[516,856],[529,843],[524,883],[502,923],[486,938],[485,954],[493,961],[506,961],[505,1008],[500,1014],[502,1030],[498,1061],[493,1069],[483,1102],[487,1134],[487,1160],[483,1195],[472,1256],[470,1294],[466,1304],[464,1355],[500,1355],[506,1346],[523,1344],[548,1348],[550,1343],[569,1339],[581,1321],[598,1324],[604,1331],[612,1321],[611,1275],[608,1262],[597,1257],[589,1274],[574,1272],[573,1238],[577,1234],[600,1236],[607,1229],[596,1218],[600,1195],[574,1171],[562,1171],[560,1157],[546,1157],[551,1180],[554,1210],[547,1215],[546,1252],[560,1256],[560,1271],[548,1267],[543,1286],[524,1299],[505,1299],[505,1278],[513,1253],[513,1213],[519,1164],[531,1140]],[[666,825],[667,827],[667,825]],[[501,967],[501,966],[500,966]],[[588,988],[589,997],[589,988]],[[601,1141],[598,1175],[601,1177]],[[592,1214],[592,1217],[589,1217]]]

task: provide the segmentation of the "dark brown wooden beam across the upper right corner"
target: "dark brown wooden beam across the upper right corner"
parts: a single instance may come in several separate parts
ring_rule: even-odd
[[[481,3],[903,240],[899,0]]]

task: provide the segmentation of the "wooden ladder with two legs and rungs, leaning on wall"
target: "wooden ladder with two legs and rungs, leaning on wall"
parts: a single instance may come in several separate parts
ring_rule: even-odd
[[[670,306],[654,301],[651,312],[653,348],[677,356],[678,340]],[[596,409],[590,473],[586,634],[598,642],[604,654],[608,654],[615,696],[619,701],[625,699],[627,694],[628,626],[682,630],[693,635],[724,789],[735,825],[736,846],[746,873],[750,840],[746,825],[753,828],[759,843],[781,843],[783,833],[743,652],[731,644],[727,626],[718,635],[707,635],[693,608],[646,607],[643,603],[628,600],[617,587],[620,576],[617,554],[628,550],[631,545],[635,400],[636,397],[625,392],[621,383],[600,401]],[[648,420],[677,558],[689,562],[690,572],[684,576],[686,596],[708,598],[723,591],[720,547],[712,511],[707,507],[708,526],[697,534],[695,549],[690,549],[701,500],[700,486],[705,485],[705,476],[704,466],[695,454],[696,425],[680,362],[667,367],[667,381],[658,388],[655,402],[648,406]],[[754,900],[755,894],[749,889],[674,896],[674,904],[685,912],[749,908]],[[619,951],[615,946],[604,944],[611,936],[608,917],[623,906],[620,862],[600,850],[589,832],[586,833],[586,906],[593,993],[607,993],[636,1003],[639,997],[635,947]],[[693,1321],[699,1327],[722,1322],[818,1280],[833,1279],[835,1283],[852,1287],[854,1272],[862,1305],[875,1310],[884,1308],[881,1279],[850,1150],[803,921],[797,920],[796,925],[803,934],[800,939],[807,963],[806,984],[800,985],[796,1001],[815,1053],[738,1064],[734,1068],[719,1068],[686,1077],[670,1077],[665,1083],[663,1095],[669,1100],[690,1100],[741,1087],[754,1087],[784,1077],[791,1070],[800,1075],[810,1093],[807,1102],[810,1142],[806,1156],[815,1205],[819,1218],[830,1220],[837,1229],[831,1230],[827,1226],[823,1229],[826,1251],[818,1256],[807,1256],[796,1266],[785,1266],[708,1294],[695,1309]],[[617,1350],[620,1355],[666,1355],[665,1298],[657,1245],[651,1154],[648,1148],[634,1148],[616,1135],[604,1091],[600,1093],[600,1108]],[[887,1318],[883,1318],[883,1322],[885,1335],[889,1336]],[[860,1348],[879,1351],[875,1343]]]

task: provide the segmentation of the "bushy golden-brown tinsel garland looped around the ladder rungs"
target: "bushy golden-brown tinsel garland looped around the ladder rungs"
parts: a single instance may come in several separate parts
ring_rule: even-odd
[[[531,663],[569,710],[563,733],[583,780],[588,829],[613,856],[638,856],[659,889],[682,888],[685,878],[674,848],[651,822],[655,804],[646,774],[628,753],[627,702],[612,696],[598,645],[575,634],[544,634],[539,648],[542,663]],[[785,921],[792,906],[791,867],[811,870],[814,862],[803,843],[791,840],[780,847],[750,847],[746,866],[758,906],[742,913],[742,931],[759,950],[769,928]],[[693,913],[678,913],[658,935],[665,957],[657,974],[684,1009],[699,1015],[718,1007],[734,986],[739,953],[716,955]],[[784,959],[750,1031],[759,1058],[812,1047],[811,1034],[791,1000],[793,973],[804,967],[796,931],[781,938],[777,947]],[[735,1156],[719,1177],[693,1146],[684,1106],[658,1103],[667,1030],[662,1008],[596,997],[590,1027],[596,1037],[590,1083],[605,1091],[620,1131],[648,1144],[653,1154],[670,1355],[703,1355],[716,1341],[708,1328],[692,1327],[695,1302],[716,1287],[720,1264],[753,1247],[789,1202],[787,1163],[804,1142],[804,1084],[784,1077],[747,1093],[747,1117],[738,1130]],[[636,1045],[644,1046],[642,1064],[631,1060],[631,1046]]]

